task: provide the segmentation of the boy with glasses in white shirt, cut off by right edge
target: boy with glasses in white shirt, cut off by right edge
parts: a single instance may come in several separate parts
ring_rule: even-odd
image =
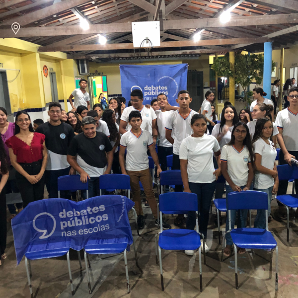
[[[290,106],[278,112],[275,123],[284,140],[284,144],[279,142],[280,164],[291,165],[291,158],[298,159],[298,87],[291,88],[288,94]],[[295,188],[298,193],[298,180],[295,180]],[[277,195],[285,195],[287,189],[288,181],[280,181]]]

